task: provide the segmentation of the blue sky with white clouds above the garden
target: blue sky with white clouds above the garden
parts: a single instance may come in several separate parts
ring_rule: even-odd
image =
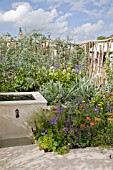
[[[0,0],[0,35],[33,29],[74,42],[113,34],[113,0]]]

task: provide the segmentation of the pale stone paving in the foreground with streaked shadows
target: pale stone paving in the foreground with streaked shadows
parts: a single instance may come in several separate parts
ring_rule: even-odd
[[[113,150],[72,149],[61,156],[36,144],[1,148],[0,170],[113,170]]]

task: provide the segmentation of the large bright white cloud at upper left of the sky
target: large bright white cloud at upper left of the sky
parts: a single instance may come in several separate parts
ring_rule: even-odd
[[[42,8],[33,10],[29,3],[14,3],[13,9],[0,12],[0,23],[9,23],[14,27],[22,27],[26,30],[42,28],[54,34],[65,33],[68,30],[67,18],[70,13],[60,14],[56,9],[46,11]]]

